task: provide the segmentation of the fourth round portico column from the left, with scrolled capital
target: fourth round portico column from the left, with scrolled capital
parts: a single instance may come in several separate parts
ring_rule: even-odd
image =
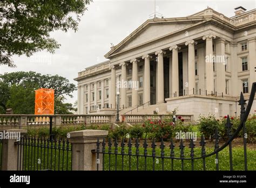
[[[142,59],[145,59],[143,83],[144,103],[150,101],[150,58],[152,58],[152,56],[149,54],[143,55],[142,57]]]

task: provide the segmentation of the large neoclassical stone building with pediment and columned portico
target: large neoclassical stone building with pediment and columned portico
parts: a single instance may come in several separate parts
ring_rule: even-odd
[[[231,18],[207,8],[187,17],[149,19],[105,58],[75,79],[78,114],[116,112],[120,92],[123,113],[150,101],[195,119],[235,115],[240,92],[248,98],[256,82],[256,9],[240,6]]]

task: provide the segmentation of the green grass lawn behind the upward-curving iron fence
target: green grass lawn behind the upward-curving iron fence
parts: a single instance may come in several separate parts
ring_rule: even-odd
[[[112,148],[113,149],[113,148]],[[107,152],[106,148],[106,152]],[[160,156],[160,149],[156,149],[156,155]],[[213,148],[206,147],[206,154],[213,151]],[[112,150],[114,152],[114,150]],[[120,152],[120,148],[118,148]],[[128,148],[125,147],[125,153],[127,154]],[[136,149],[132,148],[132,153],[135,154]],[[179,148],[174,149],[175,157],[180,156]],[[143,148],[140,148],[139,153],[143,155]],[[147,150],[148,155],[151,155],[152,150],[149,148]],[[219,170],[230,170],[228,147],[219,152]],[[201,148],[194,148],[194,157],[199,157],[201,155]],[[233,154],[233,170],[244,170],[244,149],[242,147],[235,147],[232,149]],[[186,158],[190,157],[190,148],[184,149],[184,155]],[[170,156],[170,149],[165,149],[165,156]],[[248,170],[256,170],[256,150],[247,149],[247,166]],[[110,156],[110,170],[116,168],[115,165],[116,155]],[[104,157],[104,170],[109,170],[109,154],[105,154]],[[153,159],[152,157],[147,157],[147,169],[152,170]],[[129,170],[129,156],[124,156],[123,158],[123,168],[124,170]],[[171,170],[171,159],[164,159],[164,170]],[[117,155],[117,170],[122,170],[122,156]],[[131,170],[137,170],[137,157],[131,156]],[[145,170],[145,157],[138,157],[138,170]],[[162,159],[155,158],[155,170],[162,170]],[[173,160],[173,170],[181,170],[181,160]],[[191,170],[191,161],[184,160],[184,170]],[[203,170],[203,160],[194,160],[194,170]],[[206,158],[206,170],[216,170],[215,155]]]

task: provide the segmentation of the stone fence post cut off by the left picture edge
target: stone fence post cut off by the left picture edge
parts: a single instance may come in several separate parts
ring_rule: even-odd
[[[2,170],[18,170],[18,145],[16,142],[22,139],[27,130],[9,129],[1,132],[1,139],[3,136]],[[9,136],[7,137],[7,135]],[[23,150],[19,151],[19,155],[23,156]]]

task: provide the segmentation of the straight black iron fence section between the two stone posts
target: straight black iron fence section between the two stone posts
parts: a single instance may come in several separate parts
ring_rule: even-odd
[[[72,169],[72,145],[68,139],[23,137],[17,145],[18,170]]]

